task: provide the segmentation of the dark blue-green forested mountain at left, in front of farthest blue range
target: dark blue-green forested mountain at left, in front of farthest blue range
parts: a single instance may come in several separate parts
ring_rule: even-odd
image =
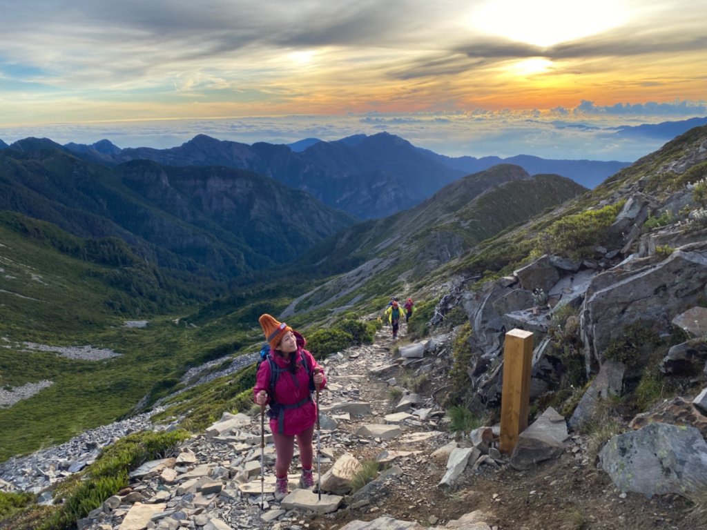
[[[79,237],[119,237],[145,259],[199,276],[284,263],[355,221],[251,172],[146,161],[109,170],[46,142],[17,146],[0,151],[0,208]]]

